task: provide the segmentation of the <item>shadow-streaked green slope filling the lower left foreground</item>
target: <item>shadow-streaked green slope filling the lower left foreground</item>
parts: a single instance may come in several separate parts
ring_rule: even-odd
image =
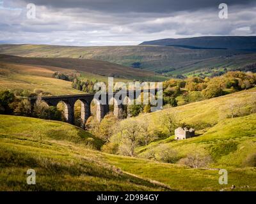
[[[0,115],[0,191],[164,191],[109,165],[100,141],[63,122]],[[36,185],[26,184],[28,169]]]

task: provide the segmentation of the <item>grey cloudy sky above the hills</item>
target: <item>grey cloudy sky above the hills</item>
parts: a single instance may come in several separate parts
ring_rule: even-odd
[[[28,18],[29,3],[36,18]],[[219,18],[220,3],[228,18]],[[191,36],[256,35],[255,0],[0,0],[0,43],[137,45]]]

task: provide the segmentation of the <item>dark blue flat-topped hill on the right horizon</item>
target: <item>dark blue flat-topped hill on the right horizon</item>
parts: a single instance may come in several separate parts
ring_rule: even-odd
[[[191,49],[232,49],[256,52],[256,36],[204,36],[145,41],[140,45],[165,45]]]

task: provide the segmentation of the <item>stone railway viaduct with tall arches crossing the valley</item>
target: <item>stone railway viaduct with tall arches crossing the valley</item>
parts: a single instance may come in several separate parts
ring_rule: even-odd
[[[157,89],[148,89],[148,93],[155,94],[157,93]],[[133,92],[133,93],[132,93]],[[81,127],[84,128],[84,124],[86,120],[91,115],[91,103],[94,101],[95,105],[97,105],[96,110],[96,117],[97,120],[101,121],[104,116],[109,112],[109,105],[114,105],[114,115],[118,118],[120,118],[122,113],[124,113],[124,105],[129,105],[132,100],[137,99],[140,97],[141,92],[143,92],[143,89],[141,90],[135,90],[135,91],[119,91],[119,92],[113,92],[113,94],[78,94],[78,95],[67,95],[67,96],[45,96],[42,97],[42,101],[47,103],[48,106],[57,106],[58,103],[62,102],[65,106],[64,110],[64,116],[66,122],[70,124],[74,124],[74,105],[76,101],[81,101]],[[145,90],[144,90],[145,92]],[[118,104],[116,101],[116,94],[118,94],[119,101],[122,101],[121,104]],[[122,99],[122,96],[125,96],[124,99]],[[102,104],[101,98],[106,97],[106,103]],[[31,106],[33,106],[36,103],[36,97],[29,98],[29,101],[31,103]],[[127,114],[129,115],[129,114]]]

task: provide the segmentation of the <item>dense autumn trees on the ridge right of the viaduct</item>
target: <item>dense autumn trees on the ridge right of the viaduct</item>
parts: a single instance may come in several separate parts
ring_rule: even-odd
[[[172,106],[223,96],[230,92],[255,87],[256,74],[228,71],[221,77],[190,77],[185,80],[170,79],[164,82],[164,104]],[[179,104],[179,100],[183,101]]]

